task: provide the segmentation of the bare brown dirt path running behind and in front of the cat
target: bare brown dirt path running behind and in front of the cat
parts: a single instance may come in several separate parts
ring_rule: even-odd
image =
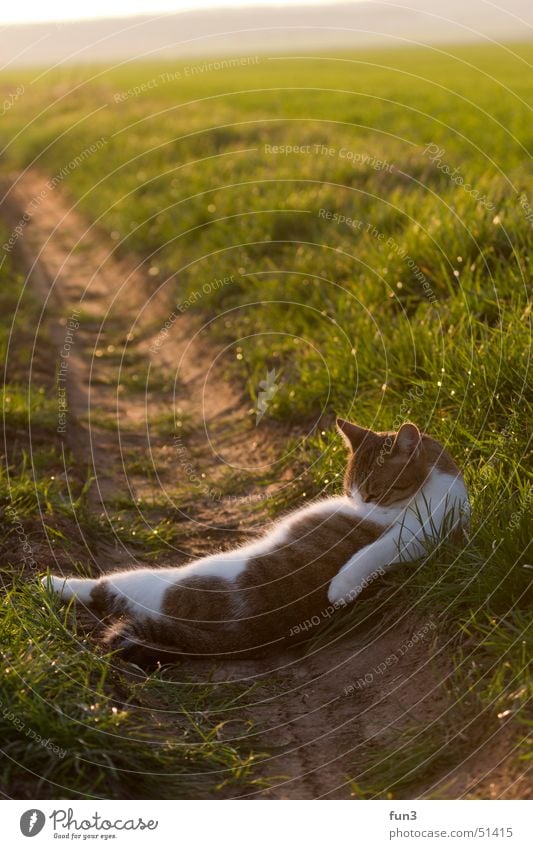
[[[136,499],[146,508],[139,515],[155,522],[161,499],[170,499],[183,533],[159,561],[166,565],[240,542],[265,515],[249,509],[253,488],[238,498],[223,493],[228,470],[244,475],[257,456],[257,430],[249,405],[224,377],[219,349],[187,312],[165,333],[170,285],[157,269],[117,259],[115,244],[45,183],[34,171],[18,175],[3,214],[15,227],[44,192],[17,250],[52,316],[58,368],[66,362],[65,444],[80,467],[90,467],[91,509],[107,513],[117,499]],[[261,463],[282,456],[286,437],[279,428],[262,429]],[[104,572],[134,562],[139,550],[118,539],[87,544]],[[278,654],[216,670],[220,680],[256,685],[234,723],[242,735],[238,720],[253,720],[254,748],[271,753],[258,767],[271,787],[256,795],[345,798],[347,776],[358,775],[368,752],[394,744],[407,719],[438,714],[430,640],[379,671],[420,624],[391,623],[378,636],[358,634],[307,656]],[[201,677],[212,664],[192,669]]]

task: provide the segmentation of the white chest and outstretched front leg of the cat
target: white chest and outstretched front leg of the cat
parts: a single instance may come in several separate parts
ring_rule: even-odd
[[[370,508],[368,519],[383,515],[378,505],[365,507]],[[375,514],[372,507],[376,508]],[[353,601],[370,575],[394,563],[422,557],[428,543],[436,542],[445,529],[465,524],[468,515],[468,495],[462,478],[434,468],[414,498],[400,509],[389,529],[356,552],[336,574],[329,585],[329,601],[332,604]]]

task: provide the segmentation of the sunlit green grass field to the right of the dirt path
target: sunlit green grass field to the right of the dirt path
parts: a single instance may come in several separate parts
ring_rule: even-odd
[[[276,370],[267,419],[305,429],[322,416],[298,454],[301,478],[272,510],[338,491],[335,412],[376,429],[412,419],[465,470],[467,544],[388,577],[377,612],[363,598],[332,626],[429,611],[455,659],[446,721],[408,728],[407,760],[394,757],[400,744],[388,759],[369,754],[351,776],[359,795],[401,797],[502,721],[517,737],[530,727],[532,224],[521,198],[533,204],[532,60],[531,45],[265,57],[124,102],[115,95],[166,69],[72,68],[33,84],[28,74],[0,130],[6,168],[54,175],[83,154],[63,188],[119,255],[145,260],[154,287],[173,275],[174,302],[210,321],[252,405]],[[128,391],[144,382],[137,366]],[[20,393],[10,389],[15,430]],[[48,427],[46,404],[31,403]]]

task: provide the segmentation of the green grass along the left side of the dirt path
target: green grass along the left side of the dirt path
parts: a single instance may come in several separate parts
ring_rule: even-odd
[[[2,358],[9,385],[0,467],[0,792],[28,799],[176,799],[259,787],[253,774],[259,755],[223,735],[228,715],[233,718],[228,704],[243,688],[189,682],[186,674],[140,676],[99,652],[75,611],[62,609],[37,582],[47,563],[90,574],[83,534],[132,542],[147,556],[171,538],[172,527],[168,520],[147,527],[140,517],[132,523],[135,504],[129,514],[116,510],[106,525],[91,514],[83,479],[76,491],[66,489],[61,469],[71,483],[76,471],[61,454],[53,365],[42,358],[28,393],[38,304],[10,262],[0,269],[0,292],[4,355],[9,343],[9,357]]]

